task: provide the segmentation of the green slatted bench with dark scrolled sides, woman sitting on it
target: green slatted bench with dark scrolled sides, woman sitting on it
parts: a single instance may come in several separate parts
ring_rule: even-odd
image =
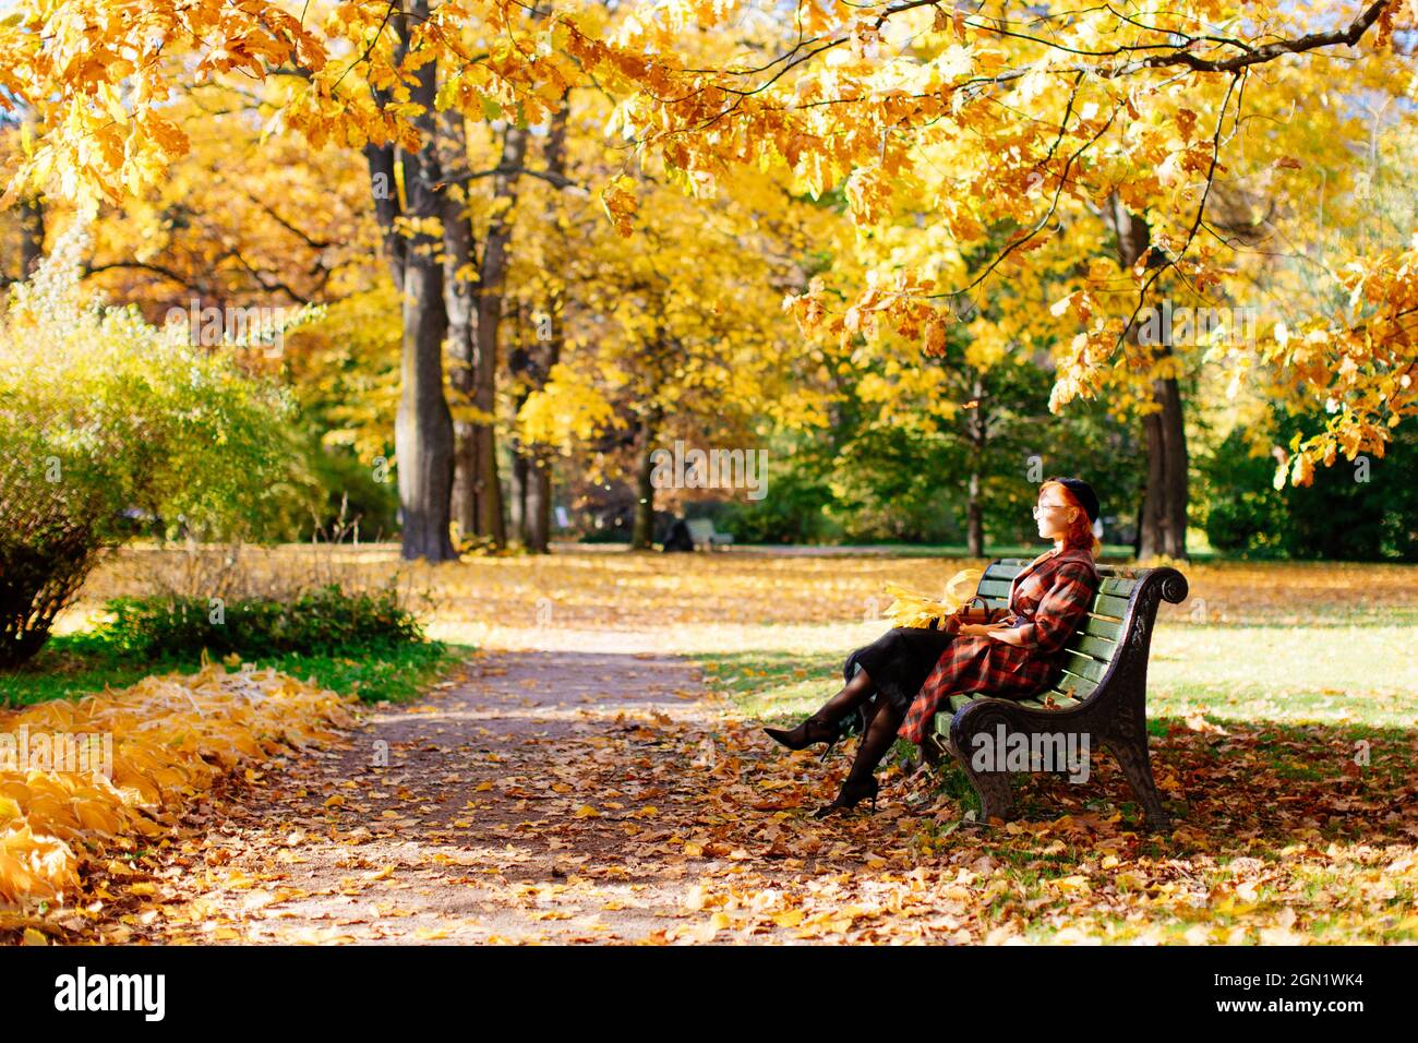
[[[1010,582],[1029,562],[994,561],[980,578],[977,593],[990,607],[1007,606]],[[950,712],[936,714],[925,739],[923,756],[937,765],[949,752],[980,795],[981,817],[1010,819],[1014,792],[1010,771],[978,771],[971,754],[976,735],[991,744],[1003,734],[1022,735],[1029,749],[1039,749],[1034,735],[1088,735],[1088,749],[1107,746],[1123,769],[1151,829],[1167,829],[1147,755],[1147,657],[1153,622],[1161,599],[1178,605],[1187,597],[1187,579],[1176,569],[1126,569],[1098,566],[1102,580],[1082,629],[1065,646],[1059,673],[1039,695],[1028,700],[990,697],[986,692],[950,697]],[[848,678],[851,680],[851,678]],[[859,718],[848,718],[858,722]],[[1004,732],[998,728],[1004,727]],[[859,722],[856,724],[859,728]],[[1081,739],[1075,739],[1076,744]],[[1056,749],[1056,745],[1055,745]],[[1058,765],[1054,766],[1058,772]]]

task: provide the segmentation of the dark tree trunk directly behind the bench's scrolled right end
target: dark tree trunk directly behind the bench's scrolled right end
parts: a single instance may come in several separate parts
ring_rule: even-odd
[[[1115,194],[1109,197],[1109,219],[1117,233],[1117,260],[1124,268],[1137,263],[1151,245],[1147,221],[1127,210]],[[1127,329],[1127,342],[1137,348],[1137,328]],[[1170,343],[1153,353],[1154,360],[1173,356]],[[1159,410],[1143,417],[1147,440],[1147,482],[1143,490],[1137,556],[1187,558],[1187,430],[1181,412],[1181,389],[1174,376],[1153,382]]]

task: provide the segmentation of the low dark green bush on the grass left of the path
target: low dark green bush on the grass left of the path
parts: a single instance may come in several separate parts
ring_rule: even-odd
[[[292,600],[250,599],[224,605],[206,597],[115,597],[113,619],[94,640],[123,656],[162,658],[237,653],[247,658],[349,654],[424,641],[418,620],[390,586],[350,595],[332,583]]]

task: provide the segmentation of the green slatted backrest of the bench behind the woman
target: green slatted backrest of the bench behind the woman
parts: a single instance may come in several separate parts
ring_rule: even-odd
[[[1028,565],[1024,558],[1001,558],[990,562],[980,578],[977,593],[990,607],[1010,603],[1010,583]],[[1065,646],[1064,661],[1041,698],[1061,707],[1086,701],[1107,674],[1119,650],[1132,647],[1143,657],[1151,643],[1151,624],[1157,614],[1157,600],[1181,602],[1187,596],[1187,580],[1176,569],[1133,569],[1122,565],[1099,565],[1098,593],[1083,624]],[[1139,600],[1144,589],[1153,596]]]

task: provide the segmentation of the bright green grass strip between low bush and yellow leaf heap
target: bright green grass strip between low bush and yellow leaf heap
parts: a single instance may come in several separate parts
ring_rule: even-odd
[[[285,656],[245,660],[275,667],[302,681],[312,680],[364,702],[414,698],[471,651],[467,646],[427,641],[370,647],[340,656]],[[193,673],[200,657],[133,658],[86,634],[52,637],[23,668],[0,674],[0,701],[28,705],[78,698],[104,688],[126,688],[149,674]]]

